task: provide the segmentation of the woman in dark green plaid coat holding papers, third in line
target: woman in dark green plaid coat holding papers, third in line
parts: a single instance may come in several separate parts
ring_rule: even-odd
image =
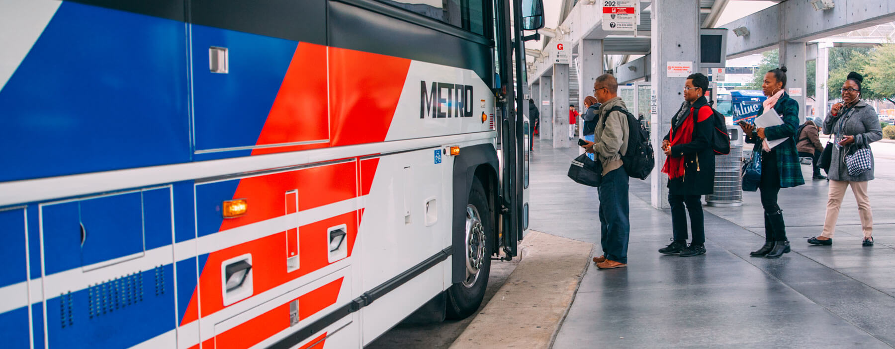
[[[753,143],[755,145],[753,151],[762,154],[762,181],[759,189],[762,192],[764,207],[764,245],[758,251],[749,253],[754,257],[780,258],[783,253],[789,252],[786,224],[783,221],[783,211],[777,204],[777,194],[781,187],[805,184],[796,151],[796,141],[793,138],[796,136],[799,124],[798,102],[789,98],[784,91],[785,88],[786,67],[773,69],[764,74],[762,89],[768,99],[758,109],[758,115],[762,115],[765,110],[772,107],[783,120],[782,124],[762,129],[754,129],[753,125],[745,123],[740,124],[746,133],[746,143]],[[786,141],[773,148],[767,143],[781,138],[786,138]]]

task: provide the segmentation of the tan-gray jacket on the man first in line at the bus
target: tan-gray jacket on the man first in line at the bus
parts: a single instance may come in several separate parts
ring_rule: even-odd
[[[621,97],[609,99],[597,111],[600,118],[593,129],[593,150],[603,165],[603,175],[621,167],[621,155],[627,152],[627,116],[624,112],[609,112],[616,105],[627,110]]]

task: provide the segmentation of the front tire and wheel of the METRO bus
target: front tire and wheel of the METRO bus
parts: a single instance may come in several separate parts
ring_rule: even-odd
[[[447,288],[447,319],[459,320],[469,317],[482,305],[485,287],[491,267],[491,251],[494,244],[493,227],[488,197],[478,178],[473,177],[473,186],[466,204],[465,246],[463,255],[453,258],[465,259],[465,279]]]

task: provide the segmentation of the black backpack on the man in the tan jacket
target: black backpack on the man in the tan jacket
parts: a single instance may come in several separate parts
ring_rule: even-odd
[[[609,112],[623,112],[627,116],[627,150],[621,156],[625,172],[635,179],[646,179],[656,164],[650,143],[650,131],[646,130],[646,127],[625,108],[616,105],[609,109]]]

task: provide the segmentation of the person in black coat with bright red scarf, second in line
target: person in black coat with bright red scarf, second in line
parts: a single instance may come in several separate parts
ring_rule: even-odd
[[[703,96],[708,88],[709,78],[705,75],[697,72],[686,77],[686,104],[671,119],[671,130],[662,140],[662,150],[668,156],[662,172],[669,175],[674,237],[659,253],[680,253],[681,257],[705,253],[703,195],[712,194],[715,186],[714,112]],[[690,245],[686,245],[686,212],[690,212],[690,230],[693,232]]]

